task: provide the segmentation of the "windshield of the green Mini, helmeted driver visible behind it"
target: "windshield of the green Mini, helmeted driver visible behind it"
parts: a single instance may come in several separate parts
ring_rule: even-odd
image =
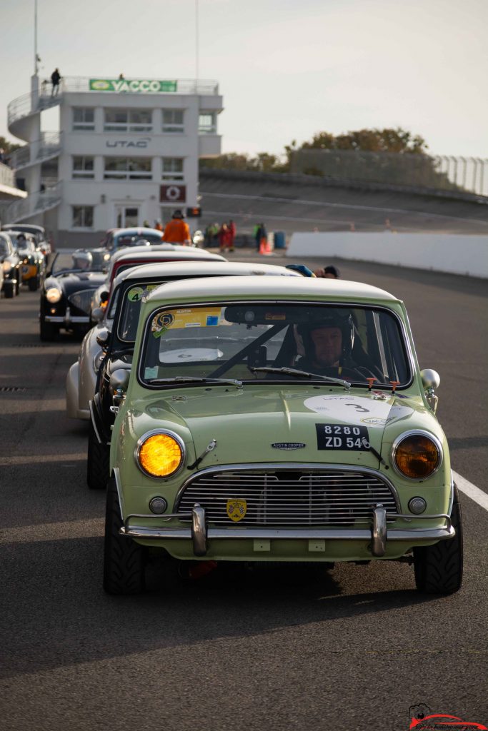
[[[340,379],[410,382],[408,349],[391,312],[374,308],[244,303],[160,309],[146,322],[141,382]],[[159,382],[159,383],[158,383]]]

